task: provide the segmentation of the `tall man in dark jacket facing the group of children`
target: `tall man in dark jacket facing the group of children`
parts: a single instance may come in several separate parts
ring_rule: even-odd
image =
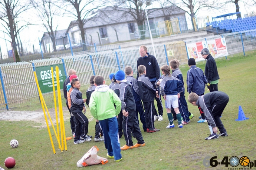
[[[159,79],[160,77],[160,68],[158,66],[157,59],[155,56],[150,55],[148,53],[148,49],[146,46],[140,46],[140,58],[137,60],[137,69],[140,65],[143,65],[146,67],[147,74],[146,77],[150,79],[151,84],[153,85],[155,90],[158,90],[157,87],[155,87],[155,82]],[[137,73],[137,80],[139,77],[139,73]],[[158,109],[158,114],[157,110],[154,110],[154,118],[155,120],[159,119],[159,121],[163,120],[163,104],[161,101],[161,97],[157,98],[155,97],[155,100],[157,101],[157,109]]]

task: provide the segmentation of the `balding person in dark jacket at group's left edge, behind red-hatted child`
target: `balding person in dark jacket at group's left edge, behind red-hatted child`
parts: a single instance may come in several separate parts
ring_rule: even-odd
[[[69,106],[68,106],[68,96],[67,96],[67,84],[70,83],[69,77],[71,75],[76,74],[76,70],[70,69],[68,71],[68,78],[66,78],[66,80],[63,83],[63,93],[64,93],[64,98],[66,99],[66,106],[68,107],[69,113],[70,113],[70,128],[71,128],[71,133],[72,135],[75,133],[75,124],[76,124],[76,120],[75,117],[73,116],[73,114],[71,113]]]

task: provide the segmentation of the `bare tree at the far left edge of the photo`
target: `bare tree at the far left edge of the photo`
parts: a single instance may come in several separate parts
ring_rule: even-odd
[[[24,3],[22,0],[0,0],[1,25],[4,27],[3,32],[12,40],[14,51],[17,49],[17,34],[30,25],[30,23],[23,20],[23,17],[21,16],[29,8],[30,3]]]

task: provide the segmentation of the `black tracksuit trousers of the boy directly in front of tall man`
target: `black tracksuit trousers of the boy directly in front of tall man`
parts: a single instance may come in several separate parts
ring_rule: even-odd
[[[155,120],[154,120],[154,110],[155,105],[154,101],[149,102],[143,102],[144,110],[145,110],[145,119],[146,119],[146,125],[147,129],[154,130],[155,129]]]

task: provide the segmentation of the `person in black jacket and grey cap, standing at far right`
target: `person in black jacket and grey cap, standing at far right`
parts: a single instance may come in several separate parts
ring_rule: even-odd
[[[201,51],[201,54],[203,58],[207,60],[204,69],[204,75],[206,76],[207,79],[206,86],[210,90],[210,92],[218,91],[218,83],[220,77],[217,70],[216,62],[213,56],[211,56],[210,51],[208,49],[204,48]]]

